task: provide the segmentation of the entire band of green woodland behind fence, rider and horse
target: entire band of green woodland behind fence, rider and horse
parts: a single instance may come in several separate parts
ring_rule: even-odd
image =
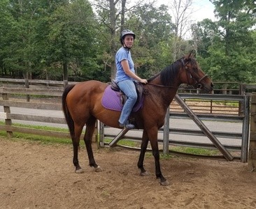
[[[153,1],[0,0],[0,74],[109,82],[120,31],[131,29],[141,77],[155,75],[195,49],[201,68],[214,81],[255,82],[255,1],[211,0],[216,21],[188,25],[189,40],[181,35],[185,23],[177,24],[178,17],[188,19],[185,9],[192,1],[186,2],[171,15],[168,6]]]

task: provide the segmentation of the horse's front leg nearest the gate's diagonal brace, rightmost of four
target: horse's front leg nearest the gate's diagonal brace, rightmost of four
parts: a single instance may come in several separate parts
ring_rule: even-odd
[[[155,157],[155,175],[157,178],[159,178],[159,182],[161,185],[167,186],[169,185],[168,180],[164,178],[161,172],[161,167],[160,167],[160,155],[159,155],[159,148],[158,148],[158,142],[157,142],[157,127],[155,128],[150,128],[150,130],[147,130],[148,132],[148,137],[150,140],[151,148],[152,148],[152,154]]]

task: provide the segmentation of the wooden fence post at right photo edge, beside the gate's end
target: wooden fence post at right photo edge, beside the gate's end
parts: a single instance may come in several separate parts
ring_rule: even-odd
[[[252,94],[250,108],[250,146],[248,155],[248,167],[255,171],[256,167],[256,93]]]

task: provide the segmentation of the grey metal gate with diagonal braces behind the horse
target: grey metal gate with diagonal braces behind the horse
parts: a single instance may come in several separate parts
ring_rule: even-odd
[[[225,115],[225,114],[194,114],[192,109],[190,109],[189,105],[186,104],[185,100],[187,99],[197,99],[197,100],[211,100],[211,102],[218,101],[232,101],[239,102],[239,107],[241,107],[239,114],[237,115]],[[224,157],[228,161],[234,160],[234,158],[239,158],[241,162],[247,162],[248,160],[248,135],[249,135],[249,121],[250,121],[250,97],[248,95],[213,95],[213,94],[185,94],[180,93],[177,94],[175,100],[180,107],[182,107],[183,112],[177,113],[173,111],[166,112],[166,118],[164,122],[164,127],[162,127],[159,132],[162,133],[162,139],[158,139],[159,143],[163,145],[163,153],[169,153],[170,145],[181,145],[181,146],[196,146],[200,148],[217,148],[222,153],[222,157]],[[197,130],[187,130],[184,128],[172,128],[169,127],[169,121],[173,120],[173,118],[179,119],[187,119],[190,118],[197,125]],[[203,121],[221,121],[223,126],[225,123],[241,123],[241,132],[223,132],[223,131],[211,131],[209,128],[203,123]],[[99,123],[98,136],[99,136],[99,144],[100,146],[115,146],[120,139],[133,139],[133,140],[141,140],[141,137],[127,137],[127,132],[129,130],[122,130],[118,134],[105,134],[108,130],[108,127],[104,127],[103,124]],[[134,131],[136,132],[136,131]],[[137,131],[140,132],[140,131]],[[189,141],[177,141],[170,138],[170,133],[175,134],[185,134],[186,136],[206,136],[210,140],[210,144],[198,143],[194,142],[192,139]],[[139,135],[139,134],[138,134]],[[111,142],[105,143],[104,137],[112,138]],[[225,145],[222,144],[218,138],[225,138],[229,140],[239,140],[241,144],[238,146]],[[239,151],[240,157],[234,157],[230,150]]]

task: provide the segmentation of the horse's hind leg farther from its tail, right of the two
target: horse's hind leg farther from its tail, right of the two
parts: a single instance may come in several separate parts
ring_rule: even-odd
[[[93,151],[92,151],[92,136],[95,130],[95,123],[96,123],[96,118],[91,116],[86,123],[84,141],[85,141],[85,146],[87,150],[87,155],[89,158],[89,165],[90,167],[94,167],[95,171],[99,172],[99,171],[102,171],[102,169],[95,162]]]

